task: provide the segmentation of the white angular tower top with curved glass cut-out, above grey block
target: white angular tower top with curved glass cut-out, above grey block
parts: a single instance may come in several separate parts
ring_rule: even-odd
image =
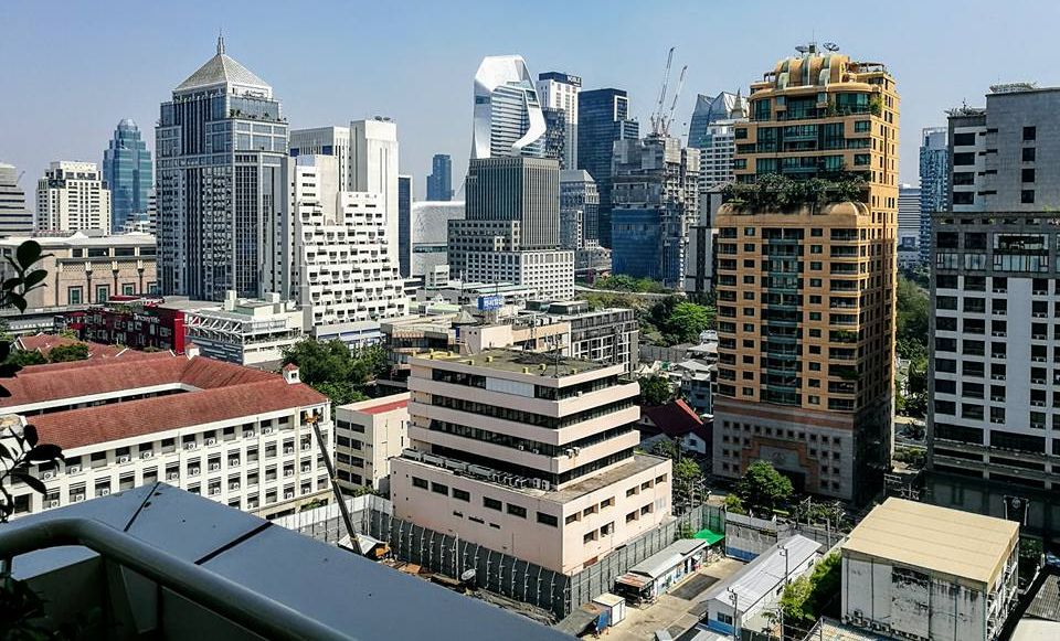
[[[471,158],[541,158],[544,133],[544,115],[522,56],[483,58],[475,74]]]

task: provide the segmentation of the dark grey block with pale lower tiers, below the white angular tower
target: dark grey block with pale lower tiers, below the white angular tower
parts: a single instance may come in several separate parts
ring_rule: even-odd
[[[574,296],[574,253],[560,248],[560,168],[545,158],[473,159],[463,221],[449,221],[449,270],[463,281]]]

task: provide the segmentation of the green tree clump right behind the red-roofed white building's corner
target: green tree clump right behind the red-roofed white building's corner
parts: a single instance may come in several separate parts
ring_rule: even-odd
[[[390,368],[380,345],[350,352],[342,341],[306,339],[284,350],[284,364],[298,365],[303,382],[326,395],[335,405],[365,400],[369,384]]]

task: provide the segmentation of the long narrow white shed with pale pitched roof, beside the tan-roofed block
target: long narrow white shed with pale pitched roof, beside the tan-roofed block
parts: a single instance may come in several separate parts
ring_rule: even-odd
[[[820,558],[822,545],[796,534],[756,556],[736,574],[707,592],[703,622],[722,634],[735,629],[759,632],[768,624],[784,586],[809,571]]]

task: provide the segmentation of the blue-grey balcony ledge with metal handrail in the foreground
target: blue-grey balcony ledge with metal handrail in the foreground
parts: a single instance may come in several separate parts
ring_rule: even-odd
[[[86,638],[565,638],[165,484],[17,520],[0,549],[49,624],[100,615]]]

